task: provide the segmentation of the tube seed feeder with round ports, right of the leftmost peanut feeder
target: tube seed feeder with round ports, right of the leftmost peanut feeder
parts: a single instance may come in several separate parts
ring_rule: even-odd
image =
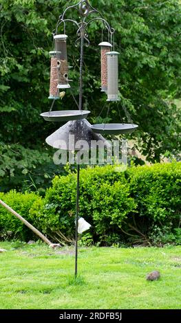
[[[70,88],[68,82],[68,63],[67,63],[67,35],[59,34],[54,36],[55,49],[58,53],[57,57],[57,71],[58,71],[58,89]]]

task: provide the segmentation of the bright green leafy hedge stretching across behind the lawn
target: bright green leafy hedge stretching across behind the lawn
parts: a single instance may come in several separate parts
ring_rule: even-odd
[[[83,234],[83,243],[181,243],[181,163],[132,166],[125,172],[116,169],[96,166],[81,170],[80,216],[92,224]],[[54,177],[44,199],[14,191],[0,194],[0,199],[47,236],[74,237],[75,173]],[[32,235],[2,207],[0,231],[24,240]]]

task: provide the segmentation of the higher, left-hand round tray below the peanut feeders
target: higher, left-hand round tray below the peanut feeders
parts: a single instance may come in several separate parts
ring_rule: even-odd
[[[81,110],[67,110],[67,111],[49,111],[41,113],[46,121],[52,122],[64,122],[70,120],[81,120],[87,118],[90,111],[81,111]]]

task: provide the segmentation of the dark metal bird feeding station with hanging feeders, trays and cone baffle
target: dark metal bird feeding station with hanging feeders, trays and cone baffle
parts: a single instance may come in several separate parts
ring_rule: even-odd
[[[77,22],[73,19],[65,19],[67,10],[76,9],[81,16],[81,21]],[[93,15],[93,16],[92,16]],[[98,16],[97,16],[98,15]],[[92,16],[89,21],[87,17]],[[101,89],[107,93],[107,101],[118,101],[118,52],[110,52],[113,47],[114,50],[114,28],[110,27],[109,23],[103,18],[103,15],[92,7],[88,0],[78,1],[75,5],[70,5],[65,9],[63,14],[59,16],[56,24],[56,31],[54,32],[54,51],[50,52],[52,56],[51,75],[50,75],[50,99],[53,99],[52,106],[49,112],[41,113],[41,116],[52,122],[67,123],[56,130],[52,135],[46,138],[47,144],[53,148],[62,149],[64,151],[80,151],[81,148],[76,148],[70,145],[70,134],[74,135],[75,142],[85,140],[89,149],[92,148],[92,140],[96,142],[103,142],[104,146],[110,148],[109,143],[100,133],[119,134],[131,133],[136,129],[134,124],[96,124],[92,126],[85,119],[90,111],[83,111],[83,56],[84,45],[89,46],[89,39],[87,34],[87,27],[90,23],[99,21],[103,23],[102,42],[101,47]],[[65,32],[66,23],[73,23],[77,27],[77,39],[75,45],[81,43],[80,53],[80,78],[79,78],[79,102],[74,101],[78,106],[78,110],[71,111],[52,111],[52,107],[56,99],[59,98],[59,91],[61,89],[69,89],[68,67],[67,64],[67,35]],[[63,25],[63,34],[58,34],[58,27]],[[104,31],[108,32],[106,41],[103,40]],[[110,42],[109,42],[110,41]],[[109,109],[108,109],[109,111]],[[63,144],[62,144],[63,142]],[[67,148],[68,147],[68,148]],[[73,149],[74,148],[74,149]],[[77,157],[80,159],[79,155]],[[79,193],[80,193],[80,160],[77,160],[77,186],[76,186],[76,237],[75,237],[75,278],[77,276],[77,260],[78,260],[78,232],[82,233],[88,230],[89,223],[81,218],[79,227]]]

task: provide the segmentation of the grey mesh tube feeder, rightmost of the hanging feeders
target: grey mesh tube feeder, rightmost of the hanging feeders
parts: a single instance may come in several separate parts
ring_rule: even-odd
[[[108,52],[107,55],[107,101],[118,99],[118,52]]]

